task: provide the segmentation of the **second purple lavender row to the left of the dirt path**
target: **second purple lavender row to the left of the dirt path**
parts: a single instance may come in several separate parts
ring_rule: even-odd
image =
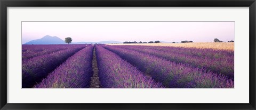
[[[45,45],[37,46],[44,47]],[[60,51],[55,51],[49,54],[45,53],[27,60],[23,60],[22,88],[33,87],[37,82],[40,82],[43,78],[45,78],[49,72],[53,71],[61,63],[65,62],[66,59],[75,54],[77,51],[85,48],[85,45],[66,45],[66,47],[66,49]]]

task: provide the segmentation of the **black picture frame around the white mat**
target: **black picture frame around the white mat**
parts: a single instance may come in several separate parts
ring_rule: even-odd
[[[0,0],[0,108],[1,109],[256,109],[255,105],[255,0]],[[249,104],[13,104],[7,101],[7,7],[250,7],[250,103]]]

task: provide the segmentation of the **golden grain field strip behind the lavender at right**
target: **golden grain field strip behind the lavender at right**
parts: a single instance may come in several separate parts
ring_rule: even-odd
[[[193,42],[193,43],[121,43],[108,45],[148,45],[148,46],[167,46],[183,48],[233,50],[234,42]]]

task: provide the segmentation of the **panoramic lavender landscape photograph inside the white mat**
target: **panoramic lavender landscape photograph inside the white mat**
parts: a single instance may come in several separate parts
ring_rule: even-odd
[[[22,88],[234,88],[235,22],[22,22]]]

